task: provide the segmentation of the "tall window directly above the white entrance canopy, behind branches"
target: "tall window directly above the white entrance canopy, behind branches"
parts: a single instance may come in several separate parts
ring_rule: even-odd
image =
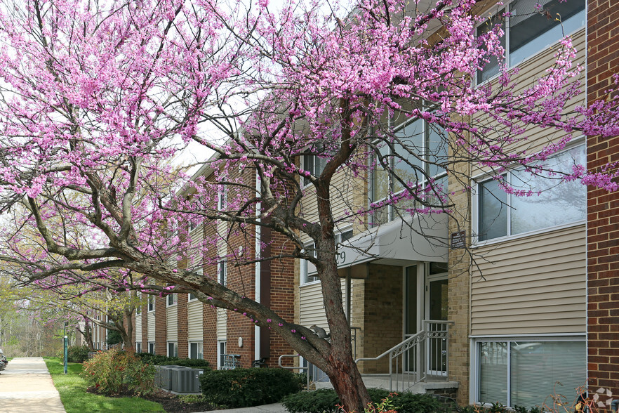
[[[394,134],[401,143],[394,141],[392,146],[383,145],[375,157],[370,201],[380,202],[404,190],[399,180],[411,187],[415,184],[427,185],[427,177],[432,177],[435,185],[442,185],[446,189],[446,172],[439,166],[447,159],[444,131],[438,129],[437,125],[415,119]],[[386,167],[381,164],[381,158],[387,164]],[[399,206],[407,205],[403,203]],[[393,208],[385,206],[373,213],[372,223],[378,225],[393,221],[394,218]]]

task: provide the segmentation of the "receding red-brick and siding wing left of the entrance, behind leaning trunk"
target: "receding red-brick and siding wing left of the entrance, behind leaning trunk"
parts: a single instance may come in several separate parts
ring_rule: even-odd
[[[212,180],[214,160],[215,157],[209,159],[192,179]],[[239,168],[233,173],[242,173],[243,181],[255,186],[255,173],[251,169]],[[182,195],[190,197],[192,190],[184,190]],[[222,210],[227,199],[236,196],[234,190],[222,185],[213,202]],[[255,257],[257,243],[265,242],[270,248],[277,248],[278,238],[264,229],[232,233],[228,237],[228,229],[228,224],[223,222],[210,226],[189,224],[187,251],[180,251],[172,259],[178,261],[178,268],[214,277],[292,320],[293,301],[289,297],[293,296],[294,263],[290,258],[240,266],[228,263],[225,258],[217,262],[212,259],[233,254],[239,258]],[[215,237],[215,232],[223,236]],[[204,359],[213,368],[232,362],[238,367],[251,367],[254,360],[260,359],[275,367],[279,355],[292,353],[284,340],[269,329],[254,325],[239,313],[202,303],[194,294],[148,296],[146,301],[135,315],[134,341],[138,352]]]

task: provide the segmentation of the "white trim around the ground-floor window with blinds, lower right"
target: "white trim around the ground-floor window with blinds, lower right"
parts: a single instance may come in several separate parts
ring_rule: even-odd
[[[479,360],[477,358],[477,346],[479,343],[503,342],[503,341],[582,341],[585,343],[585,358],[587,336],[585,333],[577,334],[518,334],[518,335],[497,335],[497,336],[470,336],[470,369],[469,369],[469,403],[479,404]],[[586,367],[585,367],[586,371]],[[509,369],[508,369],[509,373]],[[507,387],[510,388],[510,377],[507,376]],[[509,392],[508,392],[509,394]],[[508,399],[509,400],[509,399]]]

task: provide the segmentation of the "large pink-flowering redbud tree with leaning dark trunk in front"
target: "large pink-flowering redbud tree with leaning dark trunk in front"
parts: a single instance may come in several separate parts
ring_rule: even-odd
[[[501,25],[486,22],[477,3],[3,1],[0,210],[13,224],[2,229],[0,259],[25,283],[193,292],[246,314],[324,370],[347,411],[362,411],[370,398],[341,305],[338,226],[379,225],[387,209],[455,216],[437,176],[468,188],[463,165],[498,172],[514,195],[538,192],[501,180],[514,165],[617,189],[615,165],[552,171],[545,163],[573,136],[619,133],[613,98],[583,103],[571,40],[543,77],[517,84],[517,70],[502,63]],[[477,86],[486,65],[497,76]],[[404,121],[426,124],[432,145],[415,128],[401,133]],[[530,147],[532,126],[561,138]],[[189,142],[215,152],[205,166],[214,178],[175,171],[171,160]],[[306,155],[320,167],[302,163]],[[380,200],[335,208],[346,198],[333,185],[338,173],[361,184],[374,176]],[[192,245],[196,225],[204,240]],[[217,248],[259,227],[291,247]],[[204,267],[178,265],[190,248]],[[204,271],[221,259],[282,257],[316,266],[330,341]]]

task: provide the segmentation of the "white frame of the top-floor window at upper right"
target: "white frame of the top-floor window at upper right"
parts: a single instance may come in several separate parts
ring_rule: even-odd
[[[500,3],[499,6],[493,6],[495,7],[495,12],[492,13],[491,17],[489,19],[484,20],[483,22],[480,22],[476,27],[475,27],[475,36],[479,36],[479,27],[482,27],[483,25],[486,25],[488,20],[495,18],[496,16],[500,15],[501,13],[505,13],[505,11],[510,11],[510,6],[518,0],[505,0],[502,3]],[[548,0],[548,1],[552,1],[552,0]],[[547,2],[548,2],[547,1]],[[571,20],[571,18],[578,16],[578,14],[580,13],[585,13],[585,25],[579,25],[578,28],[575,29],[571,29],[571,31],[566,32],[565,36],[571,36],[573,33],[578,32],[578,30],[583,29],[583,27],[587,26],[587,1],[583,0],[585,3],[585,8],[583,11],[578,11],[575,15],[572,15],[570,18],[566,19],[565,22],[561,22],[562,24],[565,24],[568,20]],[[540,1],[541,3],[541,1]],[[492,9],[492,8],[491,8]],[[511,16],[509,15],[510,13],[507,13],[508,15],[505,16],[503,19],[504,20],[504,32],[505,34],[503,35],[503,39],[505,39],[505,55],[503,55],[503,61],[505,62],[505,67],[507,70],[512,70],[514,67],[518,67],[519,65],[525,63],[527,60],[531,60],[532,58],[535,58],[536,55],[539,55],[540,53],[544,53],[545,51],[547,51],[549,48],[552,48],[553,46],[555,46],[557,43],[559,43],[559,41],[561,41],[561,39],[563,39],[563,37],[560,37],[559,39],[552,41],[548,44],[546,44],[545,46],[543,46],[542,48],[538,49],[537,51],[534,51],[533,53],[526,53],[526,56],[524,56],[523,58],[521,58],[519,61],[512,63],[512,61],[510,60],[510,55],[512,53],[510,53],[510,21],[511,21]],[[559,27],[561,27],[561,25],[559,25]],[[550,30],[550,29],[549,29]],[[545,32],[546,33],[546,32]],[[544,34],[545,34],[544,33]],[[542,34],[542,36],[544,35]],[[539,37],[536,37],[535,39],[539,39]],[[533,39],[533,40],[535,40]],[[521,48],[526,47],[526,45],[530,44],[531,41],[528,41],[527,44],[524,44],[524,46],[522,46]],[[481,80],[479,79],[479,74],[482,71],[480,70],[476,70],[475,72],[475,84],[476,85],[482,85],[487,83],[488,81],[493,81],[493,79],[497,79],[500,76],[500,71],[497,74],[493,74],[493,76],[488,77],[487,79]]]

